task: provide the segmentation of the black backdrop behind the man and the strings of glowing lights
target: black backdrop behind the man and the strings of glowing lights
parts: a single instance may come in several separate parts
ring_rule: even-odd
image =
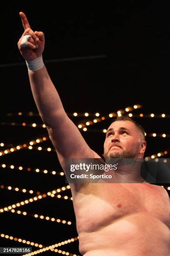
[[[34,138],[47,136],[46,129],[7,125],[7,123],[39,123],[28,80],[27,67],[17,42],[23,33],[19,12],[23,11],[33,30],[45,33],[45,61],[50,77],[59,92],[65,111],[78,124],[80,120],[93,120],[93,117],[72,117],[72,113],[99,112],[108,116],[111,112],[125,109],[135,104],[142,105],[134,110],[134,120],[143,125],[146,133],[169,132],[169,59],[170,59],[170,16],[168,4],[147,4],[129,1],[106,3],[67,3],[40,1],[23,4],[8,1],[1,9],[1,54],[0,54],[0,143],[10,148],[26,143]],[[22,112],[23,115],[15,115]],[[13,113],[14,115],[7,115]],[[157,118],[148,116],[150,113]],[[105,134],[111,119],[91,125],[83,132],[89,146],[100,156],[103,153]],[[2,124],[4,122],[5,124]],[[145,156],[168,151],[169,138],[146,137]],[[42,143],[43,148],[52,147],[50,141]],[[169,151],[168,151],[169,152]],[[166,156],[169,157],[169,153]],[[55,152],[23,149],[0,157],[0,164],[14,164],[25,168],[40,168],[61,171]],[[20,172],[0,167],[0,184],[4,186],[32,189],[45,193],[65,185],[64,177]],[[165,188],[168,184],[164,184]],[[33,195],[36,195],[33,194]],[[70,195],[70,190],[62,192]],[[1,189],[0,207],[20,202],[32,197]],[[77,236],[72,202],[57,198],[45,198],[18,210],[30,214],[72,221],[72,225],[52,223],[46,220],[25,217],[5,212],[0,214],[0,233],[49,246]],[[23,243],[0,238],[0,246],[25,246]],[[32,251],[37,248],[32,247]],[[62,246],[61,250],[80,255],[78,242]],[[45,252],[42,255],[54,254]],[[71,254],[70,254],[71,255]]]

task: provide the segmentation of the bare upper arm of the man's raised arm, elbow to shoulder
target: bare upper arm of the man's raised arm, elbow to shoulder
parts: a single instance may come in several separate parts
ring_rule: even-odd
[[[57,154],[65,158],[91,158],[92,149],[87,145],[76,125],[67,116],[60,117],[60,122],[48,129],[50,139],[56,148]]]

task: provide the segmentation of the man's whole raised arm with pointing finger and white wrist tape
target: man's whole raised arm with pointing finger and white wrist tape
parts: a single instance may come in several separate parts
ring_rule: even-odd
[[[57,150],[60,164],[64,165],[65,158],[100,157],[87,145],[78,128],[65,113],[42,61],[44,34],[32,31],[24,13],[21,12],[20,17],[25,31],[18,41],[18,49],[27,62],[32,94]]]

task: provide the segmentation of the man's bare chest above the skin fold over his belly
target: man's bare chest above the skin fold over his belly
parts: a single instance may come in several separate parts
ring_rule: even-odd
[[[88,229],[133,215],[149,214],[170,228],[170,201],[150,184],[90,184],[74,202],[77,224]]]

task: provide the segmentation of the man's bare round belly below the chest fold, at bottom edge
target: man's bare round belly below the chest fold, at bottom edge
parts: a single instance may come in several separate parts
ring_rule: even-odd
[[[84,256],[170,256],[170,229],[138,212],[94,232],[80,232],[79,250]]]

